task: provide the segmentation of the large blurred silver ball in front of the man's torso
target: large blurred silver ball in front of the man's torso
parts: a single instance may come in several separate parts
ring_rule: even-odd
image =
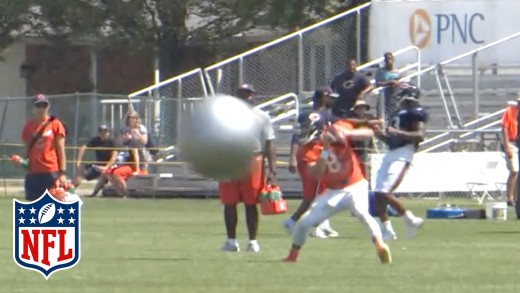
[[[217,180],[246,174],[260,130],[260,118],[250,105],[218,95],[203,100],[184,121],[181,152],[194,171]]]

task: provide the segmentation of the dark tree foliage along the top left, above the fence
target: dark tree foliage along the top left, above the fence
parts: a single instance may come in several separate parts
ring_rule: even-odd
[[[331,0],[1,1],[1,11],[12,12],[2,16],[8,27],[2,27],[0,45],[12,41],[9,34],[4,40],[6,31],[25,27],[52,42],[88,38],[99,46],[153,49],[166,65],[162,71],[172,74],[189,69],[180,61],[194,48],[205,57],[198,64],[204,66],[216,49],[229,44],[223,40],[259,27],[294,30],[337,13],[341,5]]]

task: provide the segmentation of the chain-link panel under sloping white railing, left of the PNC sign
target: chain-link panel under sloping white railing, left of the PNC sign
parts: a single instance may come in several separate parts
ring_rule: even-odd
[[[330,83],[348,58],[361,61],[369,4],[297,31],[205,69],[210,90],[234,94],[252,83],[260,98],[301,94]]]

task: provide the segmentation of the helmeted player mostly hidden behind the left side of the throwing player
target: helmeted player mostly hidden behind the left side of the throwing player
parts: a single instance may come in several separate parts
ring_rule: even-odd
[[[298,116],[298,125],[303,125],[302,127],[298,127],[297,131],[293,135],[291,139],[291,151],[289,155],[289,171],[291,173],[296,173],[300,175],[300,179],[302,182],[302,202],[294,211],[292,216],[285,220],[283,226],[285,230],[292,234],[294,230],[294,225],[300,219],[300,217],[305,213],[309,207],[311,206],[312,201],[319,194],[319,182],[315,178],[312,178],[307,172],[306,162],[302,160],[303,154],[300,149],[300,142],[298,139],[300,128],[308,129],[309,125],[305,125],[306,122],[309,122],[309,115],[312,111],[328,111],[330,107],[334,104],[336,99],[339,97],[337,93],[334,93],[330,87],[322,87],[314,92],[312,97],[312,108],[313,110],[304,111]],[[329,220],[325,220],[321,223],[316,229],[314,229],[311,234],[312,237],[317,238],[328,238],[328,237],[338,237],[338,232],[332,229],[330,226]]]

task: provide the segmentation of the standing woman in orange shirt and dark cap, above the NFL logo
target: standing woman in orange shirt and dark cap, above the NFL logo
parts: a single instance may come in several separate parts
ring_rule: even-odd
[[[66,182],[66,131],[63,124],[49,115],[50,102],[42,94],[34,100],[33,117],[22,130],[29,166],[25,175],[25,199],[40,197],[56,182]]]

